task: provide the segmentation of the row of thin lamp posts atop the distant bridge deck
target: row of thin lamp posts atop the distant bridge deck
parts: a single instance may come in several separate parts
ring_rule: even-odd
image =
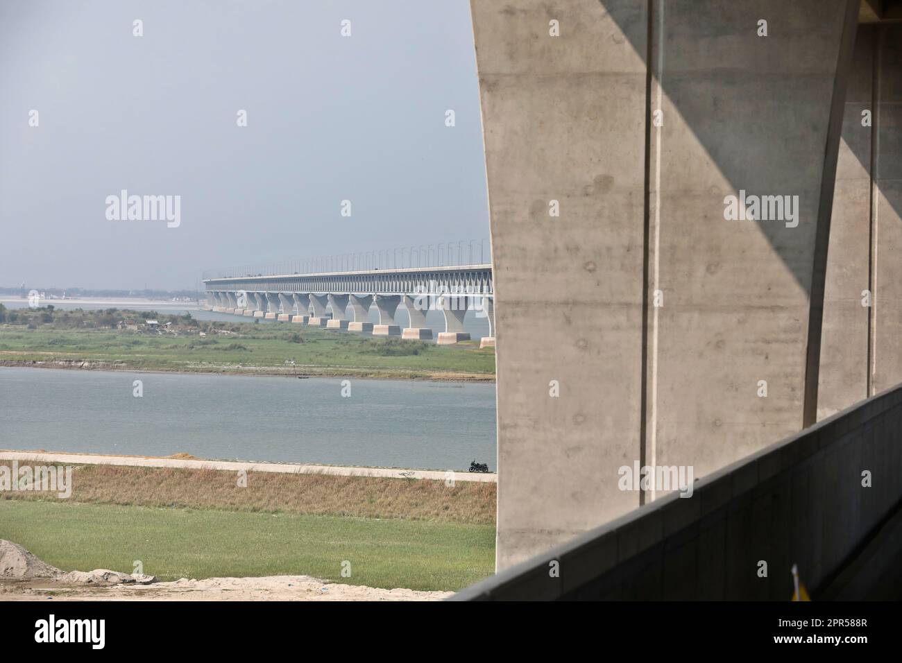
[[[211,269],[204,271],[203,279],[206,281],[207,279],[253,278],[285,274],[457,267],[490,262],[492,262],[492,250],[489,240],[474,239],[438,244],[411,244],[392,249]]]

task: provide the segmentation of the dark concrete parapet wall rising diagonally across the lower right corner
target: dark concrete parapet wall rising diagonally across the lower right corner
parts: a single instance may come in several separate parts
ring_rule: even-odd
[[[793,565],[816,599],[897,510],[900,433],[902,385],[706,476],[691,497],[650,502],[452,600],[788,601]],[[892,571],[886,552],[878,578]]]

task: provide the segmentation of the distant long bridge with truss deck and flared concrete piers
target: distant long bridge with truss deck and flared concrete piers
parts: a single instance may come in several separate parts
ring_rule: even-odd
[[[481,339],[480,347],[494,345],[492,265],[488,264],[247,275],[206,279],[204,285],[207,304],[215,311],[375,336],[430,339],[433,330],[426,314],[441,310],[445,329],[437,341],[443,345],[470,339],[464,318],[473,309],[489,323],[489,336]],[[373,305],[379,311],[377,325],[369,321]],[[395,319],[401,305],[410,318],[410,327],[403,330]]]

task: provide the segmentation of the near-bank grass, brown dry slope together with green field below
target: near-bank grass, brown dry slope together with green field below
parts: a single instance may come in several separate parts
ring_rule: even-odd
[[[67,571],[455,590],[493,572],[494,505],[493,483],[79,465],[68,500],[0,493],[0,539]]]

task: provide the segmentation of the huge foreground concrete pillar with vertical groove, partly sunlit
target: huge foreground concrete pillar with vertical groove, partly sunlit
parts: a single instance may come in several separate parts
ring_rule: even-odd
[[[503,569],[660,494],[622,466],[702,476],[814,419],[860,3],[471,5]],[[741,191],[789,196],[797,225],[727,220]]]

